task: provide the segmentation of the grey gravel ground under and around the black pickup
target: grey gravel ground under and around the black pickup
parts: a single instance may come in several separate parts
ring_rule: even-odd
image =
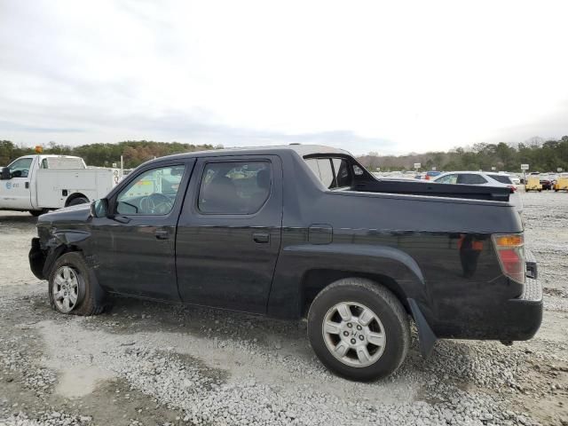
[[[319,364],[304,322],[117,298],[52,312],[29,272],[35,219],[0,212],[0,425],[568,425],[568,193],[523,193],[545,287],[540,332],[512,347],[415,333],[396,375],[351,383]]]

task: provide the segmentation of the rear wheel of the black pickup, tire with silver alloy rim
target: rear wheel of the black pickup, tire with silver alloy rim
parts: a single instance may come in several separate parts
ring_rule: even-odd
[[[348,305],[346,315],[351,314],[350,321],[339,314],[343,308],[336,309],[342,304]],[[368,312],[362,314],[366,310],[375,315],[367,326],[363,319],[369,318]],[[324,323],[329,322],[338,325],[327,326],[333,333],[324,331]],[[347,278],[327,286],[313,300],[308,312],[308,337],[313,351],[329,370],[349,380],[370,382],[400,367],[410,346],[410,324],[404,307],[387,288],[372,280]],[[371,343],[369,338],[379,344]],[[343,357],[336,351],[334,355],[334,345],[340,352],[348,347]],[[359,351],[365,355],[360,355],[364,361]],[[367,355],[370,359],[365,359]]]

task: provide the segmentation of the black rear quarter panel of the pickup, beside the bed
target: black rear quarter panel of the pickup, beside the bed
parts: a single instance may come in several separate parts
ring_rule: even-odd
[[[522,292],[502,275],[491,241],[492,233],[523,230],[509,203],[326,192],[310,185],[288,189],[309,202],[285,201],[269,313],[297,316],[304,277],[318,268],[396,280],[439,337],[483,335],[487,312]],[[312,244],[313,224],[333,228],[330,244]]]

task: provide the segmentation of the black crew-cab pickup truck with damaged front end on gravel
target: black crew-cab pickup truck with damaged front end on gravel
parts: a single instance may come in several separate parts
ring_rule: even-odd
[[[106,295],[308,321],[338,375],[395,371],[410,344],[530,339],[541,289],[507,188],[375,178],[326,146],[178,154],[106,198],[39,217],[30,266],[54,309]]]

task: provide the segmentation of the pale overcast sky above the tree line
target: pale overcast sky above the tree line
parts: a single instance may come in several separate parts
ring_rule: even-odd
[[[403,154],[568,134],[566,2],[0,0],[0,139]]]

